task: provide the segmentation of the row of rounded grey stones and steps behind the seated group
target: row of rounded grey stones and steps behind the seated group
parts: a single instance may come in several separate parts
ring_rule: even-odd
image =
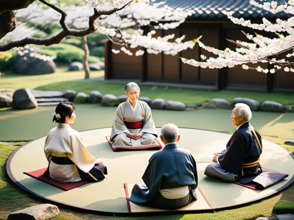
[[[14,100],[14,94],[18,100]],[[24,99],[30,99],[24,100]],[[13,107],[15,109],[32,109],[37,106],[57,105],[60,101],[71,101],[75,104],[81,103],[93,103],[101,104],[102,106],[118,106],[120,103],[127,100],[125,95],[114,96],[113,94],[102,94],[99,91],[92,91],[90,94],[83,92],[76,92],[74,90],[60,91],[37,91],[30,89],[17,89],[12,96],[0,94],[0,108]],[[259,103],[257,100],[249,99],[245,97],[236,97],[233,102],[228,100],[215,98],[211,101],[206,101],[203,104],[187,104],[185,105],[181,101],[164,100],[156,98],[151,100],[149,97],[139,97],[139,100],[145,101],[151,109],[164,109],[172,111],[194,111],[196,109],[233,109],[236,103],[247,104],[251,111],[263,111],[263,112],[294,112],[294,104],[284,106],[281,103],[274,101],[264,101]],[[22,106],[22,103],[26,103],[26,106]],[[44,104],[45,103],[45,104]]]

